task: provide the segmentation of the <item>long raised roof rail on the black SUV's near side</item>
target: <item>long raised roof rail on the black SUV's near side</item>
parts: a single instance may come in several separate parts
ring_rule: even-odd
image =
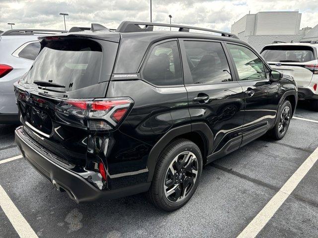
[[[144,28],[141,28],[139,25],[145,25]],[[117,32],[145,32],[145,31],[153,31],[154,26],[165,26],[165,27],[176,27],[179,28],[179,31],[189,32],[189,29],[200,30],[200,31],[209,31],[214,33],[219,33],[222,36],[232,37],[239,39],[235,34],[217,31],[213,29],[195,27],[195,26],[184,26],[184,25],[176,25],[176,24],[165,24],[165,23],[154,23],[154,22],[139,22],[139,21],[123,21],[120,23],[117,28]]]

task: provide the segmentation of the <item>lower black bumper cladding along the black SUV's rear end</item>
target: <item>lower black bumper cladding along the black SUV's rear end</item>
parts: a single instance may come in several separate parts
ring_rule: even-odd
[[[77,203],[129,196],[145,192],[150,187],[150,182],[144,182],[118,189],[100,190],[85,179],[89,172],[76,173],[71,171],[60,165],[60,163],[55,163],[44,153],[30,145],[22,126],[15,130],[15,143],[19,147],[22,156],[34,169],[44,178],[49,179],[58,190],[66,191]]]

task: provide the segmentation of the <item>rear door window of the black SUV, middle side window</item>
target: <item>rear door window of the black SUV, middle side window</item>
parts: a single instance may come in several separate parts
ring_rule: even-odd
[[[193,83],[233,81],[221,43],[184,41]]]

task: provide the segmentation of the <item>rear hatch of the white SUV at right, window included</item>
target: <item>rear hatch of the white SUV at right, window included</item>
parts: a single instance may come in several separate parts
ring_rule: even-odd
[[[266,46],[261,55],[273,69],[294,77],[298,86],[310,85],[313,78],[313,64],[317,63],[317,55],[313,47]]]

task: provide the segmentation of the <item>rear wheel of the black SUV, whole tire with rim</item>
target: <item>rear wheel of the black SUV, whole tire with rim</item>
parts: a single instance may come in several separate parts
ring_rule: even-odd
[[[177,139],[162,151],[148,197],[158,208],[174,211],[190,200],[199,184],[201,173],[202,155],[199,147],[190,140]],[[171,194],[168,195],[168,192]]]

